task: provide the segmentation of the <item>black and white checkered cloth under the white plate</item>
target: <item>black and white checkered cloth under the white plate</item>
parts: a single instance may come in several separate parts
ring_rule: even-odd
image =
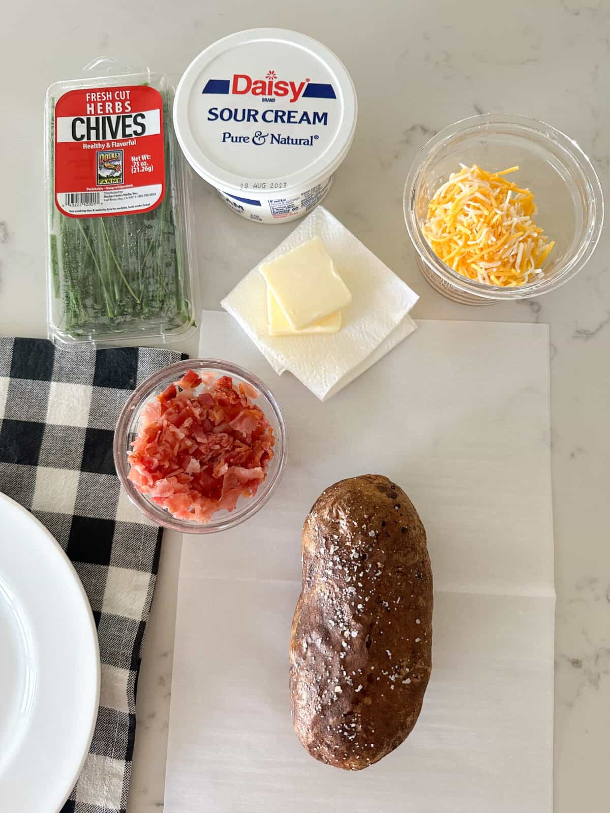
[[[42,339],[0,337],[0,491],[32,511],[63,546],[98,627],[98,722],[62,813],[127,807],[137,675],[161,529],[120,488],[112,438],[131,391],[179,359],[170,350],[62,350]]]

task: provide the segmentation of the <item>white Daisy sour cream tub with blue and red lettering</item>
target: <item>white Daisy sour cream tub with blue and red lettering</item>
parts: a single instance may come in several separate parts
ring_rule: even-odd
[[[285,223],[329,191],[354,138],[354,83],[320,42],[253,28],[203,50],[173,116],[186,159],[247,220]]]

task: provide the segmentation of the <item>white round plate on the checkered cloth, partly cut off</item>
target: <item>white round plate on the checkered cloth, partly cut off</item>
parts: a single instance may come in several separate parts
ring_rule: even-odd
[[[0,494],[0,807],[55,813],[98,714],[94,618],[46,528]]]

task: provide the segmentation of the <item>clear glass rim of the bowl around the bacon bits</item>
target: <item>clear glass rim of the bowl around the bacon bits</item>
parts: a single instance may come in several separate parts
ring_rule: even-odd
[[[227,514],[224,512],[221,519],[212,519],[211,522],[207,524],[189,522],[187,520],[177,520],[168,511],[165,511],[160,507],[158,508],[146,500],[146,498],[139,493],[139,491],[137,491],[132,481],[128,479],[129,463],[127,461],[127,450],[129,448],[129,425],[131,424],[133,414],[147,401],[149,401],[150,398],[153,398],[159,393],[159,386],[163,383],[163,381],[179,380],[184,373],[191,368],[194,369],[195,372],[197,372],[198,369],[203,368],[207,370],[215,370],[219,372],[220,375],[226,374],[229,376],[240,376],[243,380],[246,380],[249,384],[255,387],[255,389],[259,390],[261,397],[266,399],[276,417],[277,426],[279,428],[279,432],[276,437],[276,444],[273,447],[274,460],[277,458],[278,463],[276,464],[275,471],[272,473],[272,479],[269,480],[268,475],[268,478],[264,480],[264,482],[268,484],[264,493],[257,492],[254,497],[248,498],[247,500],[244,499],[242,503],[242,511],[239,510],[238,504],[235,510],[231,513]],[[271,390],[268,389],[268,386],[265,385],[258,376],[255,376],[254,373],[249,372],[248,370],[244,369],[244,367],[240,367],[238,364],[223,361],[222,359],[185,359],[183,361],[170,364],[168,367],[163,367],[161,370],[159,370],[159,372],[155,372],[151,376],[148,376],[148,378],[142,381],[142,384],[138,385],[137,388],[133,390],[133,393],[129,396],[129,399],[121,410],[119,420],[116,424],[113,453],[115,468],[119,476],[121,486],[123,487],[129,500],[133,502],[133,505],[135,505],[139,511],[142,511],[142,514],[148,517],[149,520],[157,525],[162,525],[163,528],[172,528],[172,530],[180,531],[181,533],[217,533],[219,531],[226,531],[229,528],[234,528],[236,525],[250,519],[251,516],[255,515],[255,513],[268,502],[269,498],[272,496],[272,493],[277,488],[277,485],[281,480],[281,475],[284,472],[286,462],[286,442],[286,427],[284,417],[281,414],[280,406]]]

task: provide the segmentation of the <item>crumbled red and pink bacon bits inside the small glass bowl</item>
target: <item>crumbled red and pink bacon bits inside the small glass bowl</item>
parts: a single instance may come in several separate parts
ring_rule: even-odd
[[[229,376],[189,370],[142,410],[129,479],[180,520],[207,523],[233,511],[240,497],[255,495],[273,457],[258,394]]]

